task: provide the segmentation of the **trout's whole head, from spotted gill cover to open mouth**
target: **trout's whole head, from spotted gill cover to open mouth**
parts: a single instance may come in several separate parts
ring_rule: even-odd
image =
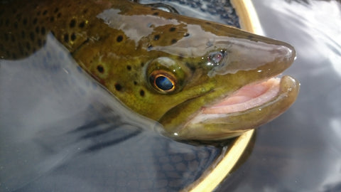
[[[124,105],[176,139],[236,137],[296,100],[299,83],[274,78],[296,57],[288,43],[151,8],[97,15],[102,41],[75,51],[80,65]]]

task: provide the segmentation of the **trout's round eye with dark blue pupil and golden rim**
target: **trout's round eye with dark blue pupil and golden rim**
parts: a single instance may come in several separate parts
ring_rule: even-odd
[[[149,80],[156,90],[163,93],[173,92],[176,87],[176,79],[173,74],[165,70],[155,70]]]

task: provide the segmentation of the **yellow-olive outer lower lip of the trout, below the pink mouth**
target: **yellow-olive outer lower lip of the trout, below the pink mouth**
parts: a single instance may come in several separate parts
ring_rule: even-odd
[[[266,80],[269,80],[271,78],[268,78]],[[218,116],[215,114],[209,115],[203,114],[202,110],[199,110],[199,112],[197,112],[197,114],[195,114],[194,117],[189,119],[189,121],[186,124],[184,124],[184,126],[180,130],[178,130],[176,134],[178,135],[179,138],[184,139],[220,140],[231,137],[237,137],[238,135],[242,134],[243,132],[246,132],[249,129],[254,129],[256,127],[259,127],[261,124],[265,124],[271,121],[272,119],[278,117],[280,114],[285,112],[288,109],[288,107],[290,107],[293,104],[293,102],[296,100],[300,87],[300,83],[294,78],[291,78],[290,76],[285,75],[279,80],[280,80],[278,84],[279,90],[277,94],[270,100],[262,103],[261,105],[251,107],[244,111],[229,112]],[[264,82],[264,80],[262,82]],[[257,83],[260,82],[252,82],[251,84],[248,85],[252,84],[256,85]],[[216,104],[217,102],[214,102],[210,106],[214,106]],[[276,108],[278,106],[280,106],[281,109],[278,110]],[[256,114],[257,112],[261,112],[261,110],[264,109],[267,109],[266,111],[268,111],[266,114],[262,115],[259,118],[257,118],[256,115],[252,116],[249,119],[249,123],[247,124],[243,124],[244,122],[241,123],[240,121],[235,120],[238,119],[238,117],[247,117],[247,115],[249,114]],[[231,122],[229,122],[229,119],[234,120],[231,120]],[[214,128],[215,131],[210,132],[205,128],[205,124],[211,124],[217,127],[226,126],[226,128],[221,129]]]

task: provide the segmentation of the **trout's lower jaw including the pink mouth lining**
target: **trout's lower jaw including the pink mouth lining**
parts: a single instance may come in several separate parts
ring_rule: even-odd
[[[256,89],[259,89],[260,94],[254,93],[256,94],[254,98],[242,98],[244,102],[252,104],[251,107],[236,107],[234,105],[243,105],[244,102],[225,98],[212,107],[203,108],[199,114],[176,132],[176,136],[194,140],[220,140],[237,137],[249,129],[270,122],[285,112],[295,102],[300,87],[299,82],[289,76],[283,76],[281,79],[271,78],[261,83],[263,85],[254,85],[259,86]],[[240,95],[243,94],[236,92],[234,97]],[[232,110],[228,109],[231,106]],[[236,111],[236,108],[242,110]]]

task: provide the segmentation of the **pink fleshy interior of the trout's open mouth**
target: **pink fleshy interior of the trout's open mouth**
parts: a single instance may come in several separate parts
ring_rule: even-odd
[[[259,106],[274,98],[279,92],[279,78],[271,78],[257,84],[245,85],[221,102],[203,107],[203,114],[227,114],[241,112]]]

